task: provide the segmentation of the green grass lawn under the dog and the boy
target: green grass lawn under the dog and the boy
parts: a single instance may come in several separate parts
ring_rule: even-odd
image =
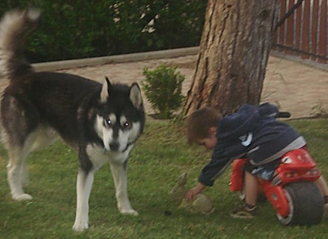
[[[308,148],[328,178],[328,120],[292,121],[306,138]],[[187,187],[196,183],[211,152],[189,146],[184,128],[170,121],[148,120],[131,153],[128,189],[140,215],[119,214],[108,165],[95,175],[89,202],[89,230],[71,230],[75,220],[77,154],[61,142],[28,158],[31,202],[11,200],[6,182],[8,155],[0,147],[0,238],[325,238],[328,220],[312,227],[281,225],[272,207],[261,203],[253,220],[229,216],[240,205],[229,191],[230,169],[205,193],[216,207],[211,215],[189,214],[170,202],[168,192],[178,175],[188,172]],[[166,211],[172,214],[167,215]]]

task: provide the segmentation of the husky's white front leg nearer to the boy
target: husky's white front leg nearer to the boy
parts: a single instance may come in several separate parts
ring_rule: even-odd
[[[126,174],[126,163],[114,164],[111,163],[111,171],[114,178],[117,208],[120,213],[138,215],[129,201],[127,196],[127,174]]]

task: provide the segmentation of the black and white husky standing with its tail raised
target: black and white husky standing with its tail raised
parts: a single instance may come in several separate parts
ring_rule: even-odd
[[[0,22],[0,79],[9,85],[1,98],[3,140],[8,149],[8,184],[14,200],[31,200],[22,184],[26,157],[53,143],[59,135],[79,157],[77,209],[73,229],[88,228],[88,200],[94,173],[110,163],[117,207],[137,215],[126,190],[128,156],[143,130],[140,88],[103,84],[77,75],[35,72],[23,56],[26,36],[40,11],[10,11]]]

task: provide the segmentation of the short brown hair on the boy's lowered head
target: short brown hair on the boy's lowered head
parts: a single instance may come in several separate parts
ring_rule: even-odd
[[[187,118],[187,138],[192,144],[209,137],[209,128],[217,127],[222,114],[214,108],[204,107],[192,112]]]

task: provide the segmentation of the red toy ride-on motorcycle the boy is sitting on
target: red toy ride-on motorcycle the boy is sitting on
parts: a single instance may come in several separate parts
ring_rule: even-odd
[[[247,158],[234,160],[230,190],[245,198],[243,166]],[[258,177],[260,192],[274,207],[283,225],[314,225],[323,215],[323,196],[315,181],[321,173],[306,148],[291,150],[280,158],[271,180]]]

